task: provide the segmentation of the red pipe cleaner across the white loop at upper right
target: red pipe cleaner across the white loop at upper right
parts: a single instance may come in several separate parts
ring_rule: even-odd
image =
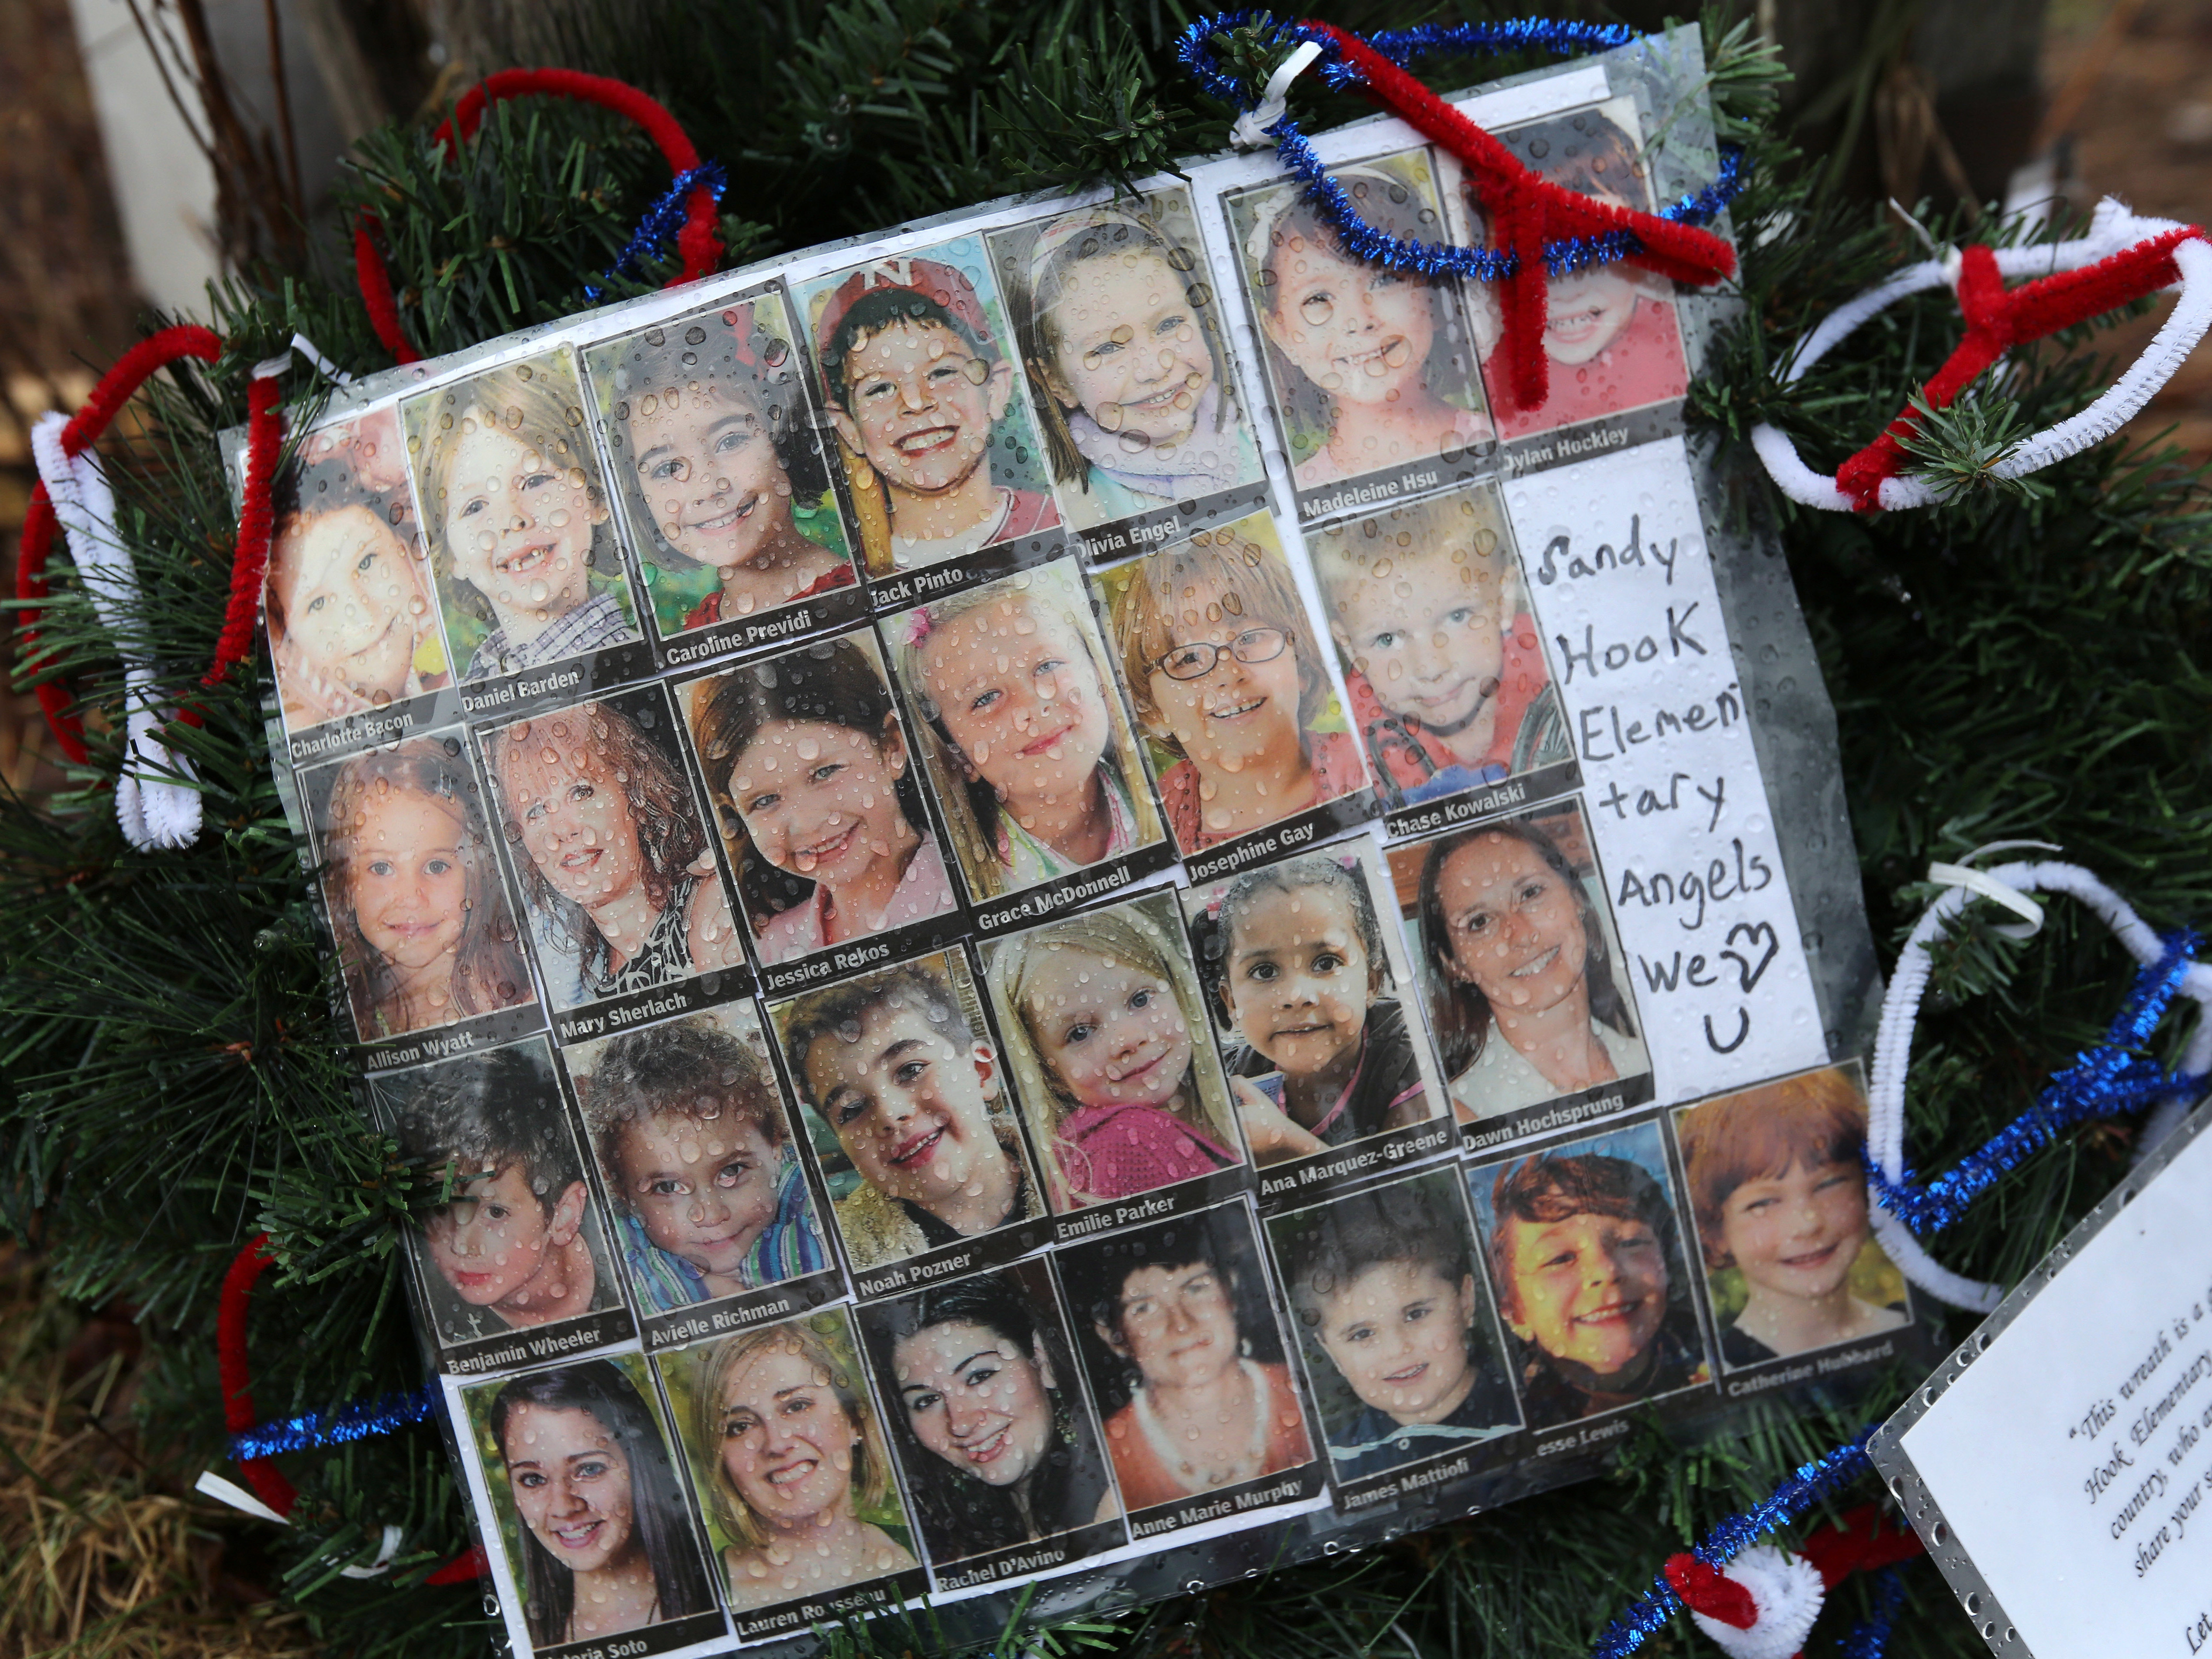
[[[1958,310],[1966,319],[1966,336],[1958,343],[1920,398],[1931,409],[1949,409],[1975,378],[2015,345],[2057,334],[2062,327],[2117,312],[2132,299],[2143,299],[2181,281],[2174,248],[2203,237],[2197,226],[2168,230],[2139,241],[2110,259],[2081,270],[2039,276],[2006,292],[1997,257],[1982,246],[1960,250]],[[1905,405],[1880,438],[1836,469],[1836,489],[1851,498],[1860,513],[1880,507],[1882,480],[1905,467],[1905,438],[1920,411]]]

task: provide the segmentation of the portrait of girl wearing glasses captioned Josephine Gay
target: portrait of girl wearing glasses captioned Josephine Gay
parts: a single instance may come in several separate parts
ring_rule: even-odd
[[[1159,803],[1186,858],[1367,787],[1265,515],[1097,580],[1121,686],[1168,761]]]

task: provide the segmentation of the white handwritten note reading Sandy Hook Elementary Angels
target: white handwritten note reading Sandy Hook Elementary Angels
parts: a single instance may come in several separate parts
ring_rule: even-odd
[[[1506,484],[1659,1099],[1825,1062],[1681,440]]]

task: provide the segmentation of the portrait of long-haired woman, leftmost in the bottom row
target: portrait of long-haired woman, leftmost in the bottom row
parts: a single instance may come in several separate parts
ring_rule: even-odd
[[[482,1427],[487,1473],[513,1500],[509,1559],[533,1648],[714,1608],[668,1440],[622,1363],[518,1376]]]

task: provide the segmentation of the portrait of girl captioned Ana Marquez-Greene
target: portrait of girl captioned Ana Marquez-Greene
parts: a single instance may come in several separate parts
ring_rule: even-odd
[[[1371,843],[1183,894],[1206,1004],[1261,1168],[1444,1113],[1427,1031],[1374,900]],[[1387,896],[1385,887],[1385,896]]]

